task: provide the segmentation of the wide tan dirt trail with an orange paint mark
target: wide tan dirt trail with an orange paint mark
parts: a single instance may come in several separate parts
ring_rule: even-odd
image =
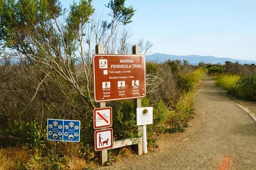
[[[197,87],[195,119],[185,133],[161,134],[159,148],[111,170],[256,170],[256,122],[206,78]]]

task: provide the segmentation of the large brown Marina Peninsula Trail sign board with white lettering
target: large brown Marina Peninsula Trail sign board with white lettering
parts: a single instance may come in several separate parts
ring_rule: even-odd
[[[95,54],[93,83],[96,102],[145,97],[145,56]]]

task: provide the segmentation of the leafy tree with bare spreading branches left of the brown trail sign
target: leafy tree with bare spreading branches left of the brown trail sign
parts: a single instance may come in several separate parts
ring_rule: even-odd
[[[91,49],[99,41],[92,42],[98,36],[92,31],[96,26],[90,25],[95,22],[91,20],[94,13],[91,3],[92,0],[73,2],[65,18],[67,11],[59,0],[1,0],[0,46],[5,56],[6,51],[12,51],[13,57],[34,65],[45,79],[70,83],[84,103],[94,108]],[[111,37],[119,25],[132,22],[135,10],[124,3],[125,0],[110,0],[107,5],[112,21],[103,22],[98,28],[104,30],[100,32],[105,37],[101,42],[106,46],[111,45]],[[76,62],[80,64],[79,71]]]

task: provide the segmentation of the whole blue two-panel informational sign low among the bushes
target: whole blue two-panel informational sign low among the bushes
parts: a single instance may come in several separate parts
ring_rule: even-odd
[[[80,121],[47,119],[47,140],[79,142]]]

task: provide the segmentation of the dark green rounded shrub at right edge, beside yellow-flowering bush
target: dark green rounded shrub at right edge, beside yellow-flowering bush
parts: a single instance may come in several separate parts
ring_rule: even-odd
[[[256,101],[256,75],[241,77],[236,82],[236,95],[241,99]]]

